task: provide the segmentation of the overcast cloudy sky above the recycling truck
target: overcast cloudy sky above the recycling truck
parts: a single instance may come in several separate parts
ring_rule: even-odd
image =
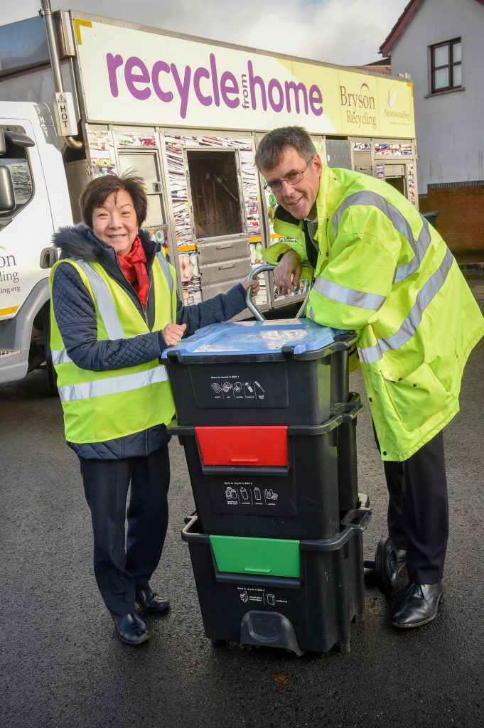
[[[76,9],[226,43],[360,65],[378,48],[408,0],[51,0]],[[1,23],[37,15],[39,0],[2,0]]]

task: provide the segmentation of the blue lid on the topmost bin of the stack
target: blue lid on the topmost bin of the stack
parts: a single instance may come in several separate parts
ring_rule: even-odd
[[[174,361],[202,360],[204,357],[231,358],[245,355],[274,358],[282,355],[282,349],[292,349],[292,355],[311,356],[333,344],[338,334],[347,333],[338,329],[320,326],[306,318],[266,321],[239,321],[215,323],[196,331],[183,339],[176,347],[164,349],[162,359]]]

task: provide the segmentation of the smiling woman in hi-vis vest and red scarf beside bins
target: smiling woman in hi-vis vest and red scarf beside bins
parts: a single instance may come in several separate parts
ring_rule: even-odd
[[[151,614],[169,606],[149,585],[167,531],[166,426],[175,414],[159,356],[242,311],[258,284],[183,306],[175,269],[140,230],[148,204],[140,178],[100,177],[79,202],[85,224],[54,238],[62,255],[50,277],[52,360],[91,510],[95,577],[119,638],[137,645],[148,631],[135,602]]]

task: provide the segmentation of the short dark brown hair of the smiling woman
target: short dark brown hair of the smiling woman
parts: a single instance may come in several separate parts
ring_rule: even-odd
[[[138,227],[146,220],[148,199],[144,190],[143,179],[131,173],[122,175],[105,175],[97,177],[87,183],[79,197],[79,207],[84,223],[92,228],[92,212],[96,207],[102,207],[109,195],[123,189],[130,194],[135,208]]]

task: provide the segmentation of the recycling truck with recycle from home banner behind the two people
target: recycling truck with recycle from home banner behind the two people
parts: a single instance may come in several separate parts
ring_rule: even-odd
[[[277,203],[254,165],[274,127],[306,127],[328,165],[384,179],[418,204],[408,79],[41,5],[0,26],[0,382],[39,363],[51,370],[50,238],[79,221],[79,194],[99,175],[143,178],[146,229],[185,304],[228,290],[276,240]],[[304,285],[278,297],[265,277],[256,304],[302,302]]]

